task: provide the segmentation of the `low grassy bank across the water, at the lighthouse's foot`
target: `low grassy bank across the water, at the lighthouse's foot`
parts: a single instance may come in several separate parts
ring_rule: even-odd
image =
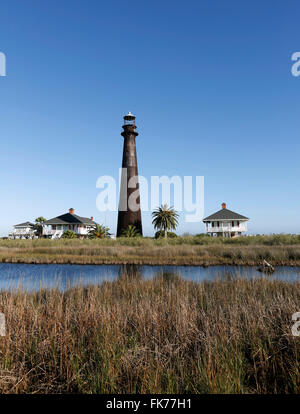
[[[0,240],[0,262],[149,265],[300,265],[300,236]]]

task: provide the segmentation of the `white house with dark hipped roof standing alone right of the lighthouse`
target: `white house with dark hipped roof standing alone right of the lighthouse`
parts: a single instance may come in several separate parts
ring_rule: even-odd
[[[228,210],[223,203],[222,209],[203,219],[203,223],[210,236],[237,237],[247,231],[248,220],[248,217]]]

